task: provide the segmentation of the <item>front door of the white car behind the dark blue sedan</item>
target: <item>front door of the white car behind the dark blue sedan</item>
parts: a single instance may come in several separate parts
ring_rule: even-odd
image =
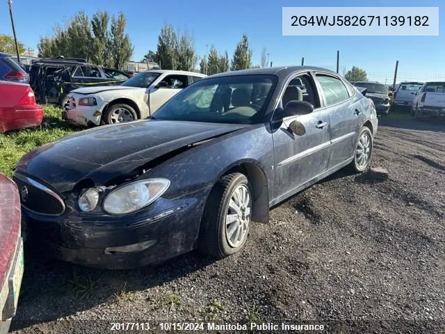
[[[180,74],[167,74],[159,79],[158,83],[149,89],[149,109],[150,113],[154,113],[165,102],[170,100],[174,95],[188,86],[188,77]],[[165,87],[160,87],[159,82],[165,82]]]

